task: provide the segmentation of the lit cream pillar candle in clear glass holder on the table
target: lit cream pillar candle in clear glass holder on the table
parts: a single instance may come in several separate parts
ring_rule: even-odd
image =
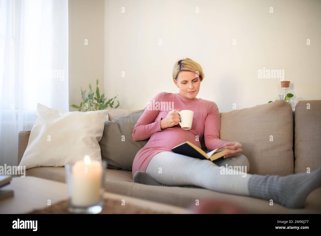
[[[90,160],[88,156],[65,164],[68,212],[98,214],[102,211],[106,168],[106,161]]]

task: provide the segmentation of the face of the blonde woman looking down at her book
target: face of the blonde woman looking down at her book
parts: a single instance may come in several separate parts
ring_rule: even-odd
[[[180,71],[175,85],[179,88],[178,94],[188,100],[195,100],[200,90],[201,80],[197,74],[192,71]]]

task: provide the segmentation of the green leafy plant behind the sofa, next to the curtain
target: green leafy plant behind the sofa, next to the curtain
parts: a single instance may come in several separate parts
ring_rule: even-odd
[[[107,100],[107,98],[105,98],[105,94],[100,95],[99,93],[99,88],[98,88],[98,79],[96,81],[96,97],[94,97],[94,92],[92,92],[91,89],[91,84],[89,83],[89,90],[90,92],[88,92],[88,97],[86,98],[86,90],[82,91],[82,88],[80,87],[81,90],[81,97],[82,97],[82,102],[80,103],[79,106],[72,104],[70,105],[73,108],[78,109],[78,111],[82,110],[82,105],[84,105],[84,110],[85,111],[96,111],[96,110],[103,110],[106,109],[108,106],[110,108],[114,108],[114,101],[116,99],[115,96],[114,98],[108,99],[107,102],[105,102]],[[117,107],[119,107],[119,101],[117,100]]]

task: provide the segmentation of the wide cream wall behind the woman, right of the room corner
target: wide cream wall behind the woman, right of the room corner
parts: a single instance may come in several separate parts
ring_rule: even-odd
[[[263,67],[283,69],[295,96],[321,99],[320,15],[313,0],[106,0],[105,92],[119,94],[119,108],[142,109],[158,92],[178,92],[173,64],[190,57],[205,74],[197,97],[220,112],[278,99],[280,79],[258,79]]]

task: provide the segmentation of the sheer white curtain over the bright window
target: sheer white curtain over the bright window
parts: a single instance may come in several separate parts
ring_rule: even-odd
[[[68,1],[0,0],[0,165],[17,165],[38,102],[69,109]]]

